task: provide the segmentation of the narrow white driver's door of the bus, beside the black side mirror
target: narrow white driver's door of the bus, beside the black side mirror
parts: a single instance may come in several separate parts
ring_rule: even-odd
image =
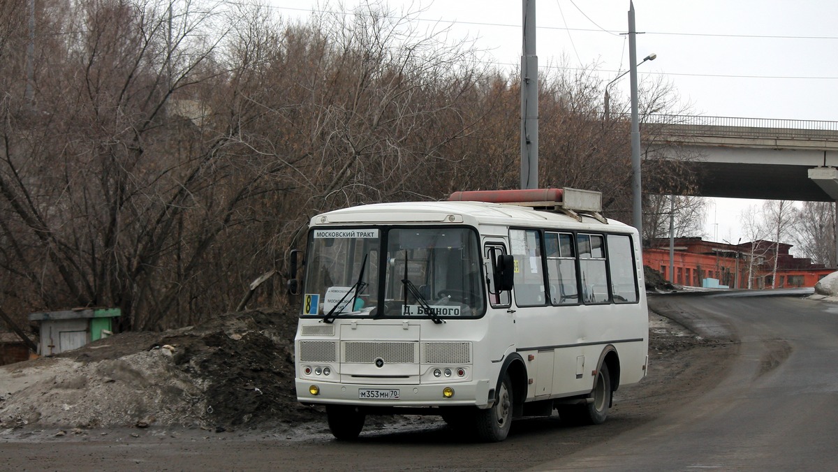
[[[490,359],[499,361],[504,354],[515,348],[515,309],[512,308],[510,290],[497,290],[494,287],[494,267],[499,256],[508,254],[503,238],[484,238],[484,276],[489,292],[489,331],[486,334],[487,345],[492,350]]]

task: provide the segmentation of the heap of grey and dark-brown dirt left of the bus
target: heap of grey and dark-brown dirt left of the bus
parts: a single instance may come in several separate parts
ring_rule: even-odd
[[[321,418],[297,403],[296,324],[282,311],[225,314],[0,367],[0,428],[252,428]]]

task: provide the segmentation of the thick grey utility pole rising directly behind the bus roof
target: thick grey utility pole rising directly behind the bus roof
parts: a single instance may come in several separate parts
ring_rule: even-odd
[[[523,0],[521,55],[521,189],[538,188],[538,56],[535,55],[535,0]]]

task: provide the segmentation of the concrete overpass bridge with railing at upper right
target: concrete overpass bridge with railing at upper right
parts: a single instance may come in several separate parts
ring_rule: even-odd
[[[838,122],[652,115],[640,131],[662,158],[699,156],[696,195],[838,200]]]

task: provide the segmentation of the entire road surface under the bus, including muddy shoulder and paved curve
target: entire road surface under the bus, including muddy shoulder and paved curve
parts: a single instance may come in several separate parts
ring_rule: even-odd
[[[650,352],[649,377],[621,388],[608,421],[595,427],[527,419],[494,444],[433,417],[370,418],[353,443],[335,441],[324,423],[15,433],[0,442],[0,469],[838,469],[838,304],[686,295],[654,297],[650,306],[718,342]]]

